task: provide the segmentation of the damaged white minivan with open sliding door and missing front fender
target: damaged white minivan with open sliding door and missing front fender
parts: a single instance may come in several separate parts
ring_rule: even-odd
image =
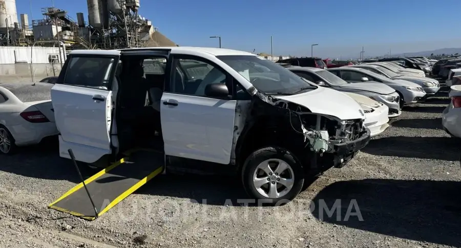
[[[295,198],[306,177],[344,166],[370,140],[349,96],[228,49],[74,50],[51,97],[61,157],[72,149],[107,166],[153,149],[164,168],[233,167],[252,197],[272,202]]]

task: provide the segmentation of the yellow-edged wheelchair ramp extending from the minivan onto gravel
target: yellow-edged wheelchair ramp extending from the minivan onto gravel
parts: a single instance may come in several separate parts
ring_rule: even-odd
[[[148,150],[135,151],[86,179],[84,182],[88,193],[83,183],[80,183],[48,207],[94,220],[160,174],[163,168],[162,154]],[[94,202],[94,208],[88,194]]]

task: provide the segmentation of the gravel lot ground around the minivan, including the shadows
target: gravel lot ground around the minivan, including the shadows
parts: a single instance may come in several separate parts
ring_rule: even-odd
[[[348,166],[282,207],[237,204],[245,194],[233,177],[161,175],[86,221],[47,209],[78,182],[56,144],[24,148],[0,162],[0,247],[461,247],[446,96],[405,107]]]

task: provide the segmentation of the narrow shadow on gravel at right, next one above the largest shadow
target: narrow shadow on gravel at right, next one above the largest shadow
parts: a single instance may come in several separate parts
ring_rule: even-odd
[[[380,156],[459,161],[459,139],[450,137],[384,137],[370,141],[361,151]]]

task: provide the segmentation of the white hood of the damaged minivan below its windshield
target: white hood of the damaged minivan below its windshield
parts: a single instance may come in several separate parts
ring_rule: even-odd
[[[348,95],[334,89],[318,87],[313,91],[290,96],[274,96],[308,108],[313,113],[341,120],[365,119],[362,107]]]

